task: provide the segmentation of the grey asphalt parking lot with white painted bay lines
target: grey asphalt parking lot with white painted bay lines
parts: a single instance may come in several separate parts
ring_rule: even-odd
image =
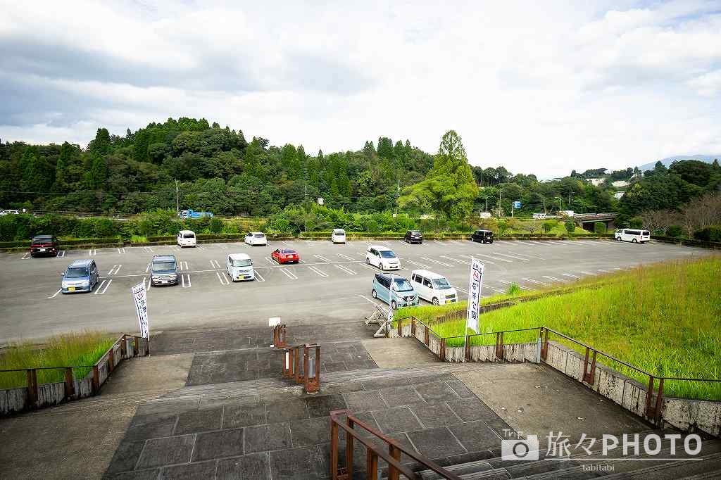
[[[638,245],[615,241],[271,241],[269,246],[239,243],[201,244],[196,248],[136,246],[68,250],[54,258],[29,258],[23,253],[0,254],[0,342],[18,337],[44,337],[70,329],[137,329],[131,286],[148,284],[154,254],[174,254],[180,265],[180,285],[149,288],[151,329],[197,326],[260,326],[269,316],[295,324],[319,324],[369,313],[374,267],[365,265],[369,244],[390,246],[401,258],[404,277],[415,269],[446,275],[466,297],[469,262],[485,262],[483,295],[503,292],[512,282],[536,289],[549,283],[569,283],[589,275],[709,254],[708,250],[671,244]],[[298,265],[277,265],[270,252],[293,248]],[[253,282],[232,283],[225,274],[230,253],[247,253],[257,272]],[[74,259],[94,258],[101,272],[93,293],[59,293],[61,272]]]

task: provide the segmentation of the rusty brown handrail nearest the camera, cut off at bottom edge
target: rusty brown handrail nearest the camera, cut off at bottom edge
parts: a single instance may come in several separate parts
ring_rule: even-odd
[[[397,450],[399,450],[400,453],[409,456],[410,458],[412,458],[413,460],[415,460],[419,463],[422,463],[423,466],[434,471],[436,474],[443,476],[443,478],[449,479],[449,480],[461,480],[461,477],[447,471],[445,468],[439,466],[437,463],[430,461],[427,458],[423,458],[423,456],[421,456],[419,453],[415,453],[410,450],[406,450],[396,440],[386,437],[386,435],[383,435],[381,432],[377,432],[376,430],[374,430],[372,427],[366,425],[366,423],[362,422],[357,417],[353,417],[353,415],[351,415],[350,412],[348,412],[348,410],[336,410],[334,412],[330,412],[330,421],[332,422],[332,424],[339,426],[340,428],[342,428],[342,430],[345,430],[345,432],[347,432],[348,435],[351,435],[354,440],[360,441],[361,443],[363,443],[363,445],[366,445],[366,448],[373,450],[373,453],[376,453],[376,455],[379,455],[381,458],[384,459],[384,461],[386,461],[388,463],[389,468],[392,467],[392,468],[396,469],[399,473],[404,474],[404,476],[407,476],[410,479],[420,478],[420,476],[415,471],[412,471],[410,468],[403,466],[395,458],[392,458],[391,455],[384,452],[383,450],[377,449],[376,446],[373,445],[372,443],[370,443],[366,438],[358,435],[358,433],[355,432],[353,427],[345,425],[343,422],[341,422],[340,419],[338,419],[338,417],[341,414],[345,414],[346,419],[348,421],[352,422],[353,425],[358,425],[359,427],[363,428],[363,430],[366,430],[366,432],[369,432],[372,435],[374,435],[375,437],[380,438],[385,443],[387,443],[389,446],[392,446],[392,447],[396,448]],[[335,442],[337,442],[337,437],[334,437],[334,438],[335,438]],[[332,438],[331,440],[334,440],[334,438]],[[346,445],[346,448],[348,448],[348,445]],[[336,452],[336,454],[337,454],[337,452]],[[353,468],[353,466],[347,465],[346,468],[348,468],[350,471],[350,468]],[[396,474],[398,472],[393,472],[393,473]],[[393,476],[391,473],[389,473],[389,478],[393,478],[393,477],[397,478],[397,475]],[[375,478],[375,476],[373,476],[372,478]]]

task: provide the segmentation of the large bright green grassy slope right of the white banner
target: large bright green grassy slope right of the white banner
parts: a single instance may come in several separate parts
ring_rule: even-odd
[[[586,278],[571,293],[545,295],[482,314],[479,333],[547,326],[657,376],[721,379],[720,279],[719,257]],[[402,308],[397,318],[414,315],[430,321],[439,337],[462,336],[465,320],[434,324],[433,319],[465,308],[465,303]],[[529,342],[534,337],[535,332],[506,334],[504,342]],[[463,341],[463,337],[451,339],[448,345]],[[471,342],[495,344],[495,335],[471,337]],[[585,353],[583,347],[563,343]],[[647,382],[644,375],[605,357],[598,361]],[[721,399],[721,383],[666,381],[664,391],[667,396]]]

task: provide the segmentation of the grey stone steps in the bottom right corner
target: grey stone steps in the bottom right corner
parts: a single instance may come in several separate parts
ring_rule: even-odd
[[[639,434],[640,444],[647,435],[663,437],[660,430],[649,430]],[[671,432],[669,432],[671,433]],[[679,449],[679,445],[681,448]],[[658,455],[623,455],[622,449],[609,450],[601,456],[601,449],[590,448],[590,455],[571,455],[560,460],[546,457],[544,449],[539,450],[536,461],[505,461],[500,456],[486,460],[458,463],[445,466],[446,470],[461,479],[718,479],[721,478],[721,440],[705,440],[702,451],[690,461],[683,450],[682,440],[676,441],[676,455],[673,460],[659,461],[658,458],[671,458],[671,440],[663,440]],[[582,450],[583,451],[583,450]],[[498,452],[495,452],[498,453]],[[629,452],[629,453],[632,453]],[[584,460],[585,458],[585,460]],[[594,458],[594,461],[588,461]],[[601,466],[602,468],[596,468]],[[423,480],[441,479],[432,471],[418,472]]]

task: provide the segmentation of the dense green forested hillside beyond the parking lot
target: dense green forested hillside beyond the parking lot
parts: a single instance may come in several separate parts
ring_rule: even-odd
[[[606,169],[539,182],[503,166],[470,166],[452,130],[434,154],[386,137],[365,141],[359,150],[306,152],[302,145],[273,146],[260,137],[248,141],[241,130],[205,119],[170,118],[123,136],[99,128],[84,149],[67,142],[0,142],[0,208],[123,214],[174,209],[177,187],[181,209],[218,215],[266,216],[322,197],[348,212],[428,213],[461,221],[478,218],[479,210],[497,213],[499,205],[509,215],[515,200],[522,203],[516,215],[620,209],[629,218],[674,208],[721,183],[717,162],[697,161],[660,166],[645,176],[619,170],[598,186],[588,179]],[[620,203],[613,197],[614,179],[631,182]]]

